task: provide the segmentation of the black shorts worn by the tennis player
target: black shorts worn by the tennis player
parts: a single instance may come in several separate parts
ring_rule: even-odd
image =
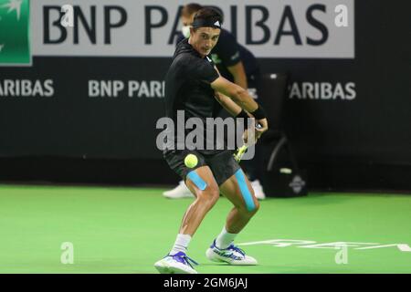
[[[184,158],[188,154],[195,154],[198,159],[194,168],[188,168],[184,164]],[[213,172],[216,183],[221,185],[240,169],[238,162],[233,157],[233,151],[220,151],[217,153],[200,153],[198,151],[166,151],[163,154],[170,168],[176,172],[185,182],[188,172],[192,172],[201,166],[208,166]]]

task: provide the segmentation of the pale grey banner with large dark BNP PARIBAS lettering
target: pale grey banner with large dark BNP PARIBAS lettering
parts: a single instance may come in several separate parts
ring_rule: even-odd
[[[180,9],[189,2],[193,1],[35,0],[33,54],[169,57],[181,29]],[[201,4],[219,8],[223,26],[257,57],[355,57],[354,0],[203,0]]]

